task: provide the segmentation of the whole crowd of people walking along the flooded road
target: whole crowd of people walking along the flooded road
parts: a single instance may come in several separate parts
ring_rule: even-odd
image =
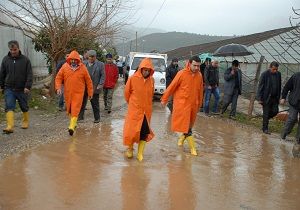
[[[7,126],[4,134],[14,132],[14,110],[16,102],[23,112],[22,128],[29,127],[28,94],[32,88],[32,67],[30,60],[24,56],[19,43],[8,42],[9,53],[2,60],[0,69],[0,91],[4,93]],[[300,73],[290,77],[281,90],[281,74],[279,64],[271,62],[269,69],[261,74],[257,90],[257,101],[262,105],[262,132],[270,134],[269,120],[277,115],[278,105],[284,104],[288,97],[289,116],[285,122],[281,138],[285,139],[298,122],[296,134],[300,144]],[[126,156],[132,158],[134,143],[138,144],[137,159],[143,160],[147,142],[153,139],[154,131],[150,121],[152,115],[152,99],[154,95],[154,67],[150,58],[141,61],[137,71],[128,78],[125,84],[124,98],[128,103],[123,129],[123,144],[127,147]],[[100,122],[99,96],[103,91],[105,111],[112,111],[112,98],[119,75],[122,75],[121,65],[113,62],[113,56],[108,53],[105,63],[97,59],[95,50],[88,50],[81,58],[77,51],[68,53],[57,65],[55,90],[60,96],[59,108],[66,109],[70,117],[68,132],[72,136],[78,121],[84,119],[84,112],[89,100],[93,109],[94,123]],[[224,97],[220,107],[219,63],[207,58],[201,64],[198,56],[191,57],[186,66],[180,70],[178,59],[173,58],[166,69],[167,89],[161,97],[162,106],[168,106],[171,115],[171,130],[180,132],[178,146],[188,142],[190,153],[197,155],[192,128],[197,113],[203,105],[204,114],[224,115],[231,104],[229,118],[236,118],[237,101],[242,93],[242,71],[238,60],[224,72]],[[210,111],[211,96],[214,104]],[[219,111],[219,107],[220,110]]]

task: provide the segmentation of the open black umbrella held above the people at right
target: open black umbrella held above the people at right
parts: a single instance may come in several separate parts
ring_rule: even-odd
[[[252,55],[253,52],[249,51],[245,45],[242,44],[227,44],[219,47],[213,56],[226,57],[226,56],[246,56]]]

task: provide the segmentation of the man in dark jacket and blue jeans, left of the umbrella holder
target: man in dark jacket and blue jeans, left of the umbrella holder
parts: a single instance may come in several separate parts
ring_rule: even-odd
[[[205,102],[204,102],[204,112],[209,115],[209,103],[211,95],[214,95],[215,103],[213,106],[212,113],[218,113],[218,106],[220,100],[220,90],[219,90],[219,62],[213,60],[211,65],[207,66],[204,70],[204,83],[205,83]]]

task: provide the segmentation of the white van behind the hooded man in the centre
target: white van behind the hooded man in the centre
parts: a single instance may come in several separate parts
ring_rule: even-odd
[[[167,54],[130,52],[127,57],[129,76],[134,74],[144,58],[151,58],[154,66],[154,94],[162,95],[166,90]]]

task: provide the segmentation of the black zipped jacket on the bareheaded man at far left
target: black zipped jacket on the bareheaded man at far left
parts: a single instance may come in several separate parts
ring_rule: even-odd
[[[32,68],[30,60],[21,54],[12,57],[10,53],[2,60],[0,69],[0,87],[13,90],[31,89]]]

